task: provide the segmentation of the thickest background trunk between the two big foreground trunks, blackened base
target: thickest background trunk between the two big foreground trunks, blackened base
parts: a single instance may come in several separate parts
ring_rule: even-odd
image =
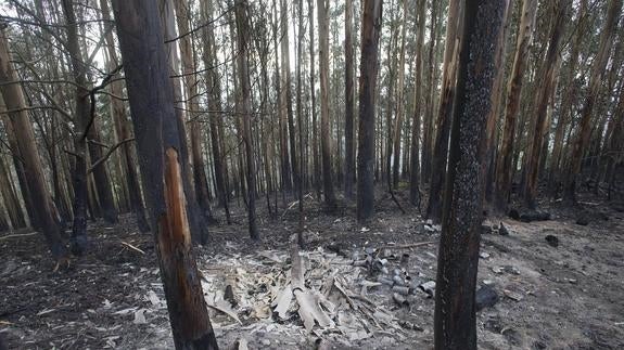
[[[366,0],[361,22],[357,154],[357,219],[374,212],[374,96],[379,69],[382,0]]]

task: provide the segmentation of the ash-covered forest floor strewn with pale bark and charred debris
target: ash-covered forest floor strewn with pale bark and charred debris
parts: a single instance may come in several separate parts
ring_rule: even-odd
[[[366,228],[355,222],[353,205],[329,216],[305,202],[306,289],[330,319],[310,332],[294,298],[273,312],[289,289],[296,206],[275,219],[259,213],[260,244],[249,239],[244,207],[233,210],[233,224],[212,226],[198,265],[220,347],[432,348],[434,300],[425,290],[435,281],[438,228],[407,208],[403,193],[408,213],[378,198]],[[486,221],[495,229],[502,222],[509,235],[482,236],[477,284],[492,286],[499,300],[477,313],[481,349],[624,349],[624,206],[591,196],[581,203],[583,209],[543,204],[548,221]],[[576,224],[580,217],[588,225]],[[39,234],[0,236],[0,336],[9,348],[173,348],[152,237],[138,233],[131,217],[115,226],[92,223],[89,235],[90,252],[60,272]],[[353,264],[367,255],[369,268]],[[395,272],[396,283],[411,285],[404,298],[393,297]],[[224,300],[228,284],[235,304]]]

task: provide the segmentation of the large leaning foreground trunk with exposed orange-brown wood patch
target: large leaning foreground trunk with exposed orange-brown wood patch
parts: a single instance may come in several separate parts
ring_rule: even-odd
[[[217,349],[195,264],[180,140],[155,1],[114,0],[141,174],[177,349]]]

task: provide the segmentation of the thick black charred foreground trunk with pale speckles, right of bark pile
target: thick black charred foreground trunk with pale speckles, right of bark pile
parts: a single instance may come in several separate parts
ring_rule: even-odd
[[[483,220],[481,161],[504,2],[466,2],[437,259],[434,343],[438,350],[476,349],[474,295]]]

